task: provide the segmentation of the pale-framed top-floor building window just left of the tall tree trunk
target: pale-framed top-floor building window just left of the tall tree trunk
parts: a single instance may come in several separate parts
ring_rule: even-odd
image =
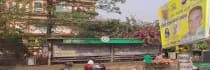
[[[42,12],[43,11],[43,0],[35,0],[33,2],[34,11],[35,12]]]

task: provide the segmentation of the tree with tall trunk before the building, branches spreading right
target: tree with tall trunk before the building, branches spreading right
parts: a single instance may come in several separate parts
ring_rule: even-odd
[[[61,0],[61,1],[68,1],[68,0]],[[60,1],[60,2],[61,2]],[[125,3],[126,0],[93,0],[95,1],[96,8],[105,10],[107,12],[115,12],[121,13],[120,8],[116,6],[116,3]],[[59,2],[59,1],[58,1]],[[73,3],[76,2],[75,0],[72,1]],[[95,18],[98,13],[95,11],[81,11],[76,10],[70,13],[56,13],[56,1],[55,0],[47,0],[47,17],[48,17],[48,24],[47,24],[47,37],[51,37],[51,29],[55,25],[56,22],[62,21],[71,22],[71,23],[78,23],[79,25],[82,23],[93,23],[89,21],[90,19]]]

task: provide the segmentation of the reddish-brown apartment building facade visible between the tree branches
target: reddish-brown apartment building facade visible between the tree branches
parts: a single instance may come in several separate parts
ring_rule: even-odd
[[[38,24],[36,22],[45,22],[47,18],[47,0],[22,0],[15,2],[15,0],[0,0],[1,3],[6,3],[8,8],[11,8],[18,4],[20,8],[25,8],[26,13],[29,15],[23,17],[21,21],[15,21],[12,27],[21,28],[25,34],[32,35],[46,35],[46,25],[30,25],[24,23]],[[76,10],[83,11],[95,11],[95,2],[91,0],[53,0],[56,13],[69,13]],[[34,21],[33,21],[34,20]],[[59,24],[60,22],[56,23]],[[69,22],[71,23],[71,22]],[[72,29],[69,26],[54,26],[52,32],[56,35],[68,35],[72,33]]]

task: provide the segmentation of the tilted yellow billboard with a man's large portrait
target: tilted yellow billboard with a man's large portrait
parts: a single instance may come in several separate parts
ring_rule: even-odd
[[[207,38],[208,0],[171,0],[159,8],[162,48]]]

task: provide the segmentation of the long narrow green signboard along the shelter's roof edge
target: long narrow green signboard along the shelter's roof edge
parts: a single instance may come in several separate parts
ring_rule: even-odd
[[[110,39],[103,42],[100,39],[64,39],[65,44],[103,44],[103,43],[142,43],[139,39]]]

